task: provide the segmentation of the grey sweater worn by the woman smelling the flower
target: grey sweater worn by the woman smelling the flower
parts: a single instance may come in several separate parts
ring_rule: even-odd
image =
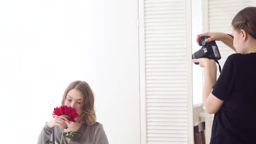
[[[54,139],[57,143],[60,143],[61,132],[60,127],[50,128],[45,124],[39,135],[37,144],[44,144],[49,139],[51,141]],[[82,124],[78,132],[83,135],[76,134],[74,139],[69,141],[69,144],[108,144],[103,126],[98,122],[91,126]],[[67,144],[66,141],[64,143]]]

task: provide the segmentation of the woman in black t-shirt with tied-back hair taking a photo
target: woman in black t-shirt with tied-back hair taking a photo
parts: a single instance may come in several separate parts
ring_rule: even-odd
[[[220,40],[236,53],[230,55],[216,81],[216,62],[193,59],[204,68],[203,104],[215,113],[211,144],[256,143],[256,7],[239,11],[232,20],[232,35],[203,33],[206,42]],[[231,37],[230,37],[231,36]]]

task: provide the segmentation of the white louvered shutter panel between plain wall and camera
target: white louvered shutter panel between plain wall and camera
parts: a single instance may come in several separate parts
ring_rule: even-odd
[[[145,0],[143,5],[142,143],[193,143],[191,3]]]

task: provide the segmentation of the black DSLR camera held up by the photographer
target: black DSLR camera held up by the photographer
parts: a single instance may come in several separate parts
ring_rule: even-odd
[[[192,59],[196,58],[209,58],[214,59],[216,62],[221,58],[218,46],[215,41],[210,41],[208,43],[205,42],[205,39],[210,37],[201,37],[199,41],[199,45],[202,46],[200,50],[196,51],[192,55]],[[195,63],[199,64],[199,63]]]

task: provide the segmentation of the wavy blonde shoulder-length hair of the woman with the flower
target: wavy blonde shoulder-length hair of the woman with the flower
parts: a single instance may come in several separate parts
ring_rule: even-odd
[[[76,119],[77,122],[86,123],[88,125],[93,125],[96,123],[96,114],[94,107],[94,93],[92,92],[90,86],[85,81],[74,81],[68,85],[66,91],[63,94],[61,105],[64,105],[67,93],[75,89],[82,93],[83,101],[81,105],[82,114]]]

